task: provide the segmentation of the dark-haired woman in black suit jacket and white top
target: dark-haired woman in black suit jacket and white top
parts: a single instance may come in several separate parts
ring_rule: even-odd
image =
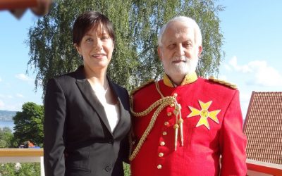
[[[113,25],[95,11],[73,25],[83,65],[49,80],[44,101],[45,175],[123,175],[130,113],[128,92],[106,76]]]

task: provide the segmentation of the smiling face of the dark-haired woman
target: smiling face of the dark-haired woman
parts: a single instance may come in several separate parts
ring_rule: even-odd
[[[85,33],[75,48],[83,57],[85,69],[97,71],[107,68],[114,51],[114,42],[103,26],[97,25]]]

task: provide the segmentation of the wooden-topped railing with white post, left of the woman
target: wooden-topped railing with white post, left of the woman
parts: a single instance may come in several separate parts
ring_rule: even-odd
[[[40,163],[44,176],[43,149],[0,149],[0,163]]]

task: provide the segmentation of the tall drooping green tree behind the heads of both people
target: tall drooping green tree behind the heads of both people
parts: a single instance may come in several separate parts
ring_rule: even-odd
[[[75,18],[89,10],[104,13],[114,23],[116,44],[108,74],[129,90],[163,73],[157,56],[157,34],[176,15],[194,18],[202,29],[203,52],[197,73],[205,77],[219,72],[224,52],[217,13],[223,8],[212,0],[58,0],[28,33],[28,65],[37,73],[36,87],[45,89],[49,78],[82,64],[71,32]]]

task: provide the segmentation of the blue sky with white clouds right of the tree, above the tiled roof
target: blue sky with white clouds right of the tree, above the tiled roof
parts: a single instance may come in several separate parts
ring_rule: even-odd
[[[282,92],[282,1],[219,1],[226,57],[219,77],[238,85],[243,118],[252,91]]]

